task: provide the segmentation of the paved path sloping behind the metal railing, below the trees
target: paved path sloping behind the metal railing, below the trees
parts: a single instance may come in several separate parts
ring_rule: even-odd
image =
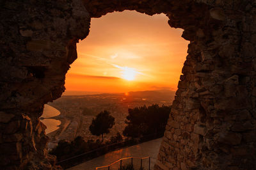
[[[136,144],[134,146],[112,151],[110,153],[102,155],[101,157],[97,157],[87,162],[84,162],[83,164],[71,167],[70,170],[95,170],[95,167],[106,166],[108,164],[112,164],[120,158],[125,157],[150,157],[150,169],[153,169],[161,141],[162,138],[154,139],[146,143]],[[148,162],[148,160],[145,160],[145,164],[146,162]],[[136,160],[134,160],[134,163],[136,164]]]

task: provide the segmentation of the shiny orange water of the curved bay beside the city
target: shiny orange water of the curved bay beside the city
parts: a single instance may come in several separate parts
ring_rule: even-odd
[[[46,134],[49,134],[49,133],[57,130],[58,128],[60,128],[60,127],[58,127],[61,124],[60,120],[48,119],[48,118],[52,118],[52,117],[58,116],[58,115],[60,115],[60,111],[58,111],[54,107],[51,107],[51,105],[47,105],[47,104],[44,105],[44,112],[43,112],[41,118],[47,118],[47,119],[44,119],[41,121],[47,127],[45,129]]]

